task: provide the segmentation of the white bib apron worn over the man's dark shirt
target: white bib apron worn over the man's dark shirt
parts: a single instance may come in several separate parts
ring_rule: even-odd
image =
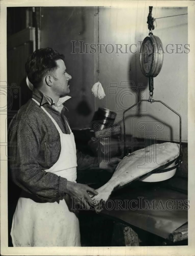
[[[38,105],[39,103],[33,99]],[[55,124],[61,142],[58,161],[46,172],[55,173],[76,182],[76,146],[74,135],[62,133],[52,116],[41,106]],[[68,123],[67,123],[68,124]],[[68,195],[56,199],[40,199],[22,192],[13,216],[11,238],[13,246],[81,246],[79,220],[69,210]]]

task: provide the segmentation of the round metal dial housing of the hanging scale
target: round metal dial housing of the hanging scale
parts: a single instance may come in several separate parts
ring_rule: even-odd
[[[146,77],[156,77],[162,68],[162,42],[158,36],[147,36],[141,44],[140,67]]]

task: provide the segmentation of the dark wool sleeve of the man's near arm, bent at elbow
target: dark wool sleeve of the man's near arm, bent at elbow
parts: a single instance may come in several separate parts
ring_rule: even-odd
[[[8,170],[13,182],[24,191],[43,199],[64,196],[67,179],[42,170],[37,162],[40,153],[39,132],[25,121],[12,120],[8,129]],[[19,129],[18,129],[19,127]]]

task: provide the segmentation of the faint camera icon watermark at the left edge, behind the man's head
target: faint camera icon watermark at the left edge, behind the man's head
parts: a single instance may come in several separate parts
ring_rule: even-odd
[[[21,107],[21,88],[12,83],[8,86],[6,81],[0,82],[1,114],[15,114]]]

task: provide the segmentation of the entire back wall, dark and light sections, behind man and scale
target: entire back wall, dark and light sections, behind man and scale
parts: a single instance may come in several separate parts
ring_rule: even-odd
[[[114,52],[108,54],[105,48],[100,58],[100,82],[106,92],[103,100],[94,98],[92,85],[97,81],[97,53],[71,54],[71,40],[97,43],[97,7],[42,7],[41,47],[53,47],[66,55],[66,66],[72,75],[71,96],[67,102],[71,109],[67,113],[72,127],[89,127],[93,113],[98,107],[107,107],[117,112],[116,121],[121,123],[122,112],[134,104],[141,96],[148,99],[148,79],[140,70],[139,54],[116,52],[115,44],[138,44],[132,51],[139,51],[139,42],[148,35],[148,6],[116,8],[100,7],[99,39],[105,45],[114,45]],[[154,18],[187,13],[187,8],[153,7]],[[187,15],[157,19],[153,31],[162,44],[187,44]],[[78,44],[78,42],[77,42]],[[170,49],[170,48],[169,48]],[[183,49],[183,48],[182,48]],[[78,52],[79,50],[75,50]],[[109,45],[107,51],[111,52]],[[187,141],[187,54],[164,54],[163,67],[154,78],[154,99],[162,100],[182,116],[182,140]],[[131,81],[131,82],[129,82]],[[141,98],[140,98],[141,99]],[[131,114],[131,115],[130,115]],[[134,118],[132,115],[134,114]],[[137,115],[142,115],[138,118]],[[140,121],[162,122],[164,129],[158,132],[162,140],[179,139],[179,118],[160,103],[141,103],[126,115],[126,130],[137,137],[144,137],[138,131]],[[150,122],[153,125],[153,122]],[[163,125],[162,124],[162,125]],[[152,127],[153,129],[153,127]]]

